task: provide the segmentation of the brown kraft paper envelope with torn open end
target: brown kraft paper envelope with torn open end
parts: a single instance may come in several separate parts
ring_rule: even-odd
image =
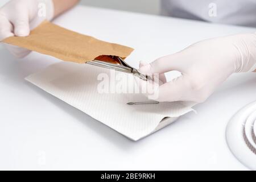
[[[94,59],[113,62],[108,56],[125,59],[133,52],[133,48],[104,42],[47,21],[27,37],[12,36],[2,42],[81,64]]]

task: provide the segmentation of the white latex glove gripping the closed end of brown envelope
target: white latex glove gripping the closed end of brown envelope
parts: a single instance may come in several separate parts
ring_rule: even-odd
[[[12,0],[0,9],[0,40],[9,36],[28,36],[30,30],[54,15],[52,0]],[[30,53],[27,49],[5,44],[16,57]]]

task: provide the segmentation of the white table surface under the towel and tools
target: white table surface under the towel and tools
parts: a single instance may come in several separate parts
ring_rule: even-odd
[[[134,67],[202,39],[255,31],[82,6],[55,23],[135,48],[127,59]],[[255,73],[233,75],[195,106],[198,114],[133,142],[24,81],[59,60],[38,53],[17,60],[3,47],[0,55],[0,169],[247,169],[229,151],[225,128],[256,100]]]

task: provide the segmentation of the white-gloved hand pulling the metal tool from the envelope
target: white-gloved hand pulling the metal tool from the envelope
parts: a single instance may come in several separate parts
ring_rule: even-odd
[[[183,51],[141,65],[139,72],[160,74],[164,84],[158,88],[157,101],[204,102],[232,73],[255,69],[256,34],[240,34],[195,43]],[[179,71],[182,75],[165,82],[163,73],[168,71]]]

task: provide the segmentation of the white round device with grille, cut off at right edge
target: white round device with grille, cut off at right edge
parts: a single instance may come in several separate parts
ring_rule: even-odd
[[[255,134],[255,111],[256,101],[238,111],[226,127],[226,141],[233,155],[242,164],[253,170],[256,170],[256,148],[252,144],[254,142],[252,137],[255,135],[253,136],[251,131],[253,128]],[[253,123],[254,127],[247,121]]]

